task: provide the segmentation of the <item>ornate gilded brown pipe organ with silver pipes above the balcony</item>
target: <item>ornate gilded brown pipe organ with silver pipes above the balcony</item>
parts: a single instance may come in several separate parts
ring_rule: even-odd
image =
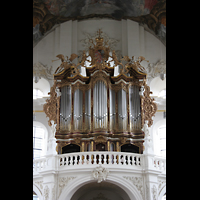
[[[118,60],[100,30],[96,41],[90,42],[89,51],[81,57],[57,56],[62,63],[43,107],[49,125],[51,120],[57,124],[57,152],[63,153],[69,144],[80,146],[81,151],[120,151],[122,145],[132,144],[142,153],[144,122],[150,127],[157,110],[140,64],[145,58]],[[120,69],[118,76],[114,76],[116,69]]]

